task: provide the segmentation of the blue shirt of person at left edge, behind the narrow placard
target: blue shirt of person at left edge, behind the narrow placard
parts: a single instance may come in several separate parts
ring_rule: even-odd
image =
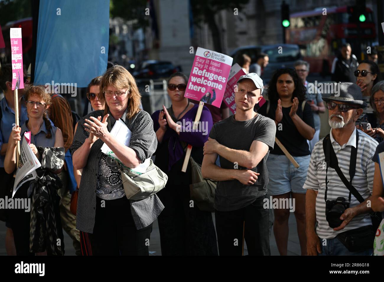
[[[24,100],[22,100],[24,101]],[[0,122],[0,149],[3,143],[8,143],[11,135],[13,124],[15,123],[15,111],[8,106],[5,97],[0,101],[0,109],[2,111],[2,119]],[[19,115],[19,124],[24,124],[28,119],[26,106],[22,103],[21,114]],[[4,167],[5,156],[0,156],[0,168]]]

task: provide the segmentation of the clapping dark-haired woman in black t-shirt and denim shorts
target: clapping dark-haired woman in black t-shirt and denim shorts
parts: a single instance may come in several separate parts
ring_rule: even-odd
[[[273,199],[295,200],[295,217],[301,247],[301,255],[306,255],[305,235],[305,190],[311,152],[307,140],[314,136],[314,119],[311,106],[305,102],[306,88],[295,69],[281,68],[275,71],[269,82],[268,98],[258,113],[268,116],[276,123],[276,138],[299,164],[295,168],[275,143],[266,165],[270,175],[268,194]],[[268,104],[270,104],[269,109]],[[303,107],[304,105],[304,107]],[[290,200],[291,198],[291,200]],[[280,255],[287,255],[288,219],[290,209],[287,206],[274,209],[275,222],[273,232]]]

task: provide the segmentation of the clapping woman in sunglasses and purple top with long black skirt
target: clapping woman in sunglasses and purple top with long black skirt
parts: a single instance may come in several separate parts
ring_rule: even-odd
[[[164,189],[157,193],[164,203],[158,217],[162,255],[217,255],[216,233],[210,212],[200,211],[192,204],[189,193],[191,168],[181,171],[185,151],[192,145],[191,157],[201,164],[203,146],[212,128],[212,116],[204,106],[198,129],[192,131],[198,105],[184,97],[188,78],[183,73],[172,74],[168,95],[172,106],[152,114],[158,141],[155,164],[167,173]],[[180,125],[181,124],[181,125]]]

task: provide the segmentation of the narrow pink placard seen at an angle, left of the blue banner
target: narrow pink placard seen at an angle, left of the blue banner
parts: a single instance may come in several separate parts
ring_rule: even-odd
[[[12,90],[24,88],[22,29],[11,28]]]

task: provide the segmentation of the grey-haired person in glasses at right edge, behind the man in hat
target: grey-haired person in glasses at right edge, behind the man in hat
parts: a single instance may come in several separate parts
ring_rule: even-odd
[[[367,113],[356,126],[381,143],[384,140],[384,81],[375,84],[371,90],[369,103],[373,113]]]

